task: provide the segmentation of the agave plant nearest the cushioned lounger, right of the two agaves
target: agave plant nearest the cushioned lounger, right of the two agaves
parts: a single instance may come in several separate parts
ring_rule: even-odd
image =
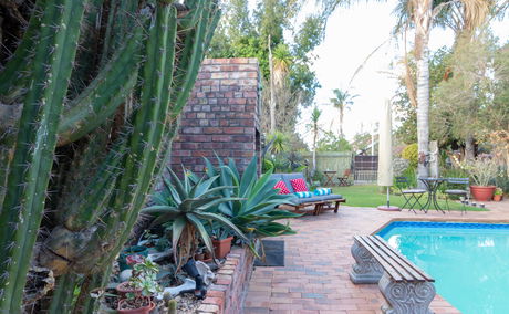
[[[216,206],[216,211],[229,220],[249,237],[248,244],[252,245],[256,239],[294,234],[289,223],[279,223],[276,220],[300,217],[287,210],[277,209],[278,206],[290,203],[292,196],[279,195],[273,188],[277,180],[271,179],[272,170],[257,176],[258,158],[253,157],[240,176],[233,159],[225,165],[220,158],[219,167],[205,158],[209,178],[220,176],[215,185],[233,186],[233,189],[220,190],[228,201]]]

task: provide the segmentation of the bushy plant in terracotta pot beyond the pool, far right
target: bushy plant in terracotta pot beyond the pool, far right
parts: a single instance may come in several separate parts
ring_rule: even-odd
[[[470,193],[477,201],[489,201],[494,197],[495,186],[490,181],[498,174],[498,164],[489,155],[479,155],[476,159],[465,160],[463,167],[472,179]]]

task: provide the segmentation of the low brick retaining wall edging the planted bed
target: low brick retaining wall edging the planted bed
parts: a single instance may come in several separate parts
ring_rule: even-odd
[[[241,313],[253,271],[254,255],[248,248],[235,247],[225,265],[218,271],[216,283],[198,308],[198,314]]]

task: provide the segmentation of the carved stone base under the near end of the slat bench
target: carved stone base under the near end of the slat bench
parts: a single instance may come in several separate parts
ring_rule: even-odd
[[[384,273],[378,287],[387,302],[382,306],[385,314],[433,314],[429,303],[435,297],[435,285],[430,282],[394,282]]]

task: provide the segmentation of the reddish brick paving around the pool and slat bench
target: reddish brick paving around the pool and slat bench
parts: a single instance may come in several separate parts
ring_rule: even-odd
[[[381,313],[384,303],[376,284],[355,285],[349,272],[354,234],[368,234],[392,219],[509,222],[509,201],[487,205],[490,211],[458,211],[443,214],[384,212],[372,208],[342,207],[339,213],[324,212],[291,220],[298,234],[285,240],[285,266],[257,268],[252,274],[243,314]],[[460,313],[439,295],[432,303],[435,313]]]

